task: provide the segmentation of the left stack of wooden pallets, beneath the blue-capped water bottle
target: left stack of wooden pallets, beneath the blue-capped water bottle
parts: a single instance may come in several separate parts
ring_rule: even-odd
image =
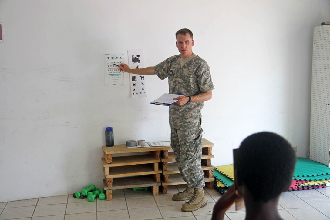
[[[107,200],[112,200],[112,190],[135,187],[151,187],[153,196],[158,196],[158,187],[161,185],[158,169],[161,150],[171,147],[139,147],[128,148],[125,144],[113,147],[102,147],[104,158],[101,158],[105,178],[104,189]],[[128,155],[113,157],[113,154],[128,154],[146,152],[142,155]]]

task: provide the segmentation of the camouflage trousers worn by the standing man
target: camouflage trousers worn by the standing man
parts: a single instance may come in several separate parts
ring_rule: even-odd
[[[189,188],[205,186],[201,167],[202,129],[179,130],[171,128],[171,147],[183,180]]]

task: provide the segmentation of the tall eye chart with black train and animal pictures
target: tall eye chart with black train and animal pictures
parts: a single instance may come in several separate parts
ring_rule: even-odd
[[[143,49],[128,50],[128,66],[131,69],[140,69],[145,67]],[[132,98],[147,96],[146,78],[147,77],[144,75],[129,74]]]

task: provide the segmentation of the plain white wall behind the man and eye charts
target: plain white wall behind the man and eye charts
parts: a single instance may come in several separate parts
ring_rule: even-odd
[[[153,66],[178,54],[185,27],[215,85],[202,110],[212,164],[264,130],[307,157],[313,27],[329,17],[327,0],[0,0],[0,202],[102,187],[107,126],[115,144],[169,140],[167,107],[149,104],[167,80],[148,77],[148,97],[132,99],[104,85],[103,54],[144,49]]]

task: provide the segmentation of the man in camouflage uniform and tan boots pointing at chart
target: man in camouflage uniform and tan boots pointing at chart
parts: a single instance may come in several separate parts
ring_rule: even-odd
[[[203,187],[204,172],[201,167],[202,128],[201,109],[204,101],[212,98],[214,89],[210,67],[206,61],[192,52],[193,34],[188,29],[176,33],[176,45],[180,54],[172,56],[154,67],[130,69],[119,66],[125,72],[139,75],[156,74],[160,79],[168,77],[169,93],[180,94],[169,107],[171,147],[183,180],[188,188],[174,194],[175,201],[188,200],[182,211],[194,211],[206,205]]]

